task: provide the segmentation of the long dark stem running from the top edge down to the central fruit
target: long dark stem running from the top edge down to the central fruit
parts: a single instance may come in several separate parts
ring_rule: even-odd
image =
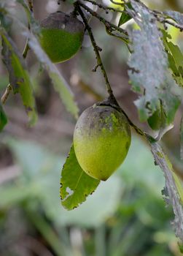
[[[104,65],[101,61],[101,56],[100,56],[100,53],[99,53],[99,48],[98,48],[98,45],[96,44],[96,40],[93,36],[93,32],[92,32],[92,29],[90,28],[90,26],[88,25],[87,23],[87,18],[85,18],[85,15],[84,13],[82,12],[80,6],[79,6],[80,2],[76,2],[75,3],[75,7],[77,9],[77,11],[79,12],[79,15],[82,17],[82,20],[83,22],[85,23],[85,28],[87,29],[88,31],[88,34],[90,36],[90,40],[91,40],[91,43],[93,45],[93,50],[95,51],[96,53],[96,59],[97,59],[97,66],[101,68],[101,72],[103,73],[104,75],[104,79],[106,81],[106,91],[108,92],[109,96],[113,96],[113,92],[112,92],[112,88],[111,88],[111,85],[109,83],[109,79],[106,75],[106,70],[104,68]]]

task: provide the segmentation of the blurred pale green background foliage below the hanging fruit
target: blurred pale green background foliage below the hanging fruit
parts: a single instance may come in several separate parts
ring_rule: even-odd
[[[136,137],[117,173],[74,211],[59,198],[64,157],[27,140],[4,143],[21,172],[0,187],[0,255],[19,255],[15,245],[26,236],[58,256],[179,255],[169,224],[173,213],[160,192],[163,173]]]

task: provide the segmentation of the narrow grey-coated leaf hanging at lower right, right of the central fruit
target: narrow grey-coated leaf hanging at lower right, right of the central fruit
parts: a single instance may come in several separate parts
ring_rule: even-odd
[[[163,170],[166,187],[163,189],[166,203],[174,209],[175,219],[172,222],[176,236],[183,242],[183,188],[179,177],[174,173],[170,160],[158,143],[150,143],[155,162]]]

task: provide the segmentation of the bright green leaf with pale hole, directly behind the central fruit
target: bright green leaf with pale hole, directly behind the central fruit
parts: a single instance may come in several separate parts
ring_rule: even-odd
[[[82,170],[74,152],[74,146],[71,146],[69,157],[61,173],[61,200],[62,205],[67,210],[72,210],[86,200],[86,197],[92,194],[100,181],[87,176]]]

